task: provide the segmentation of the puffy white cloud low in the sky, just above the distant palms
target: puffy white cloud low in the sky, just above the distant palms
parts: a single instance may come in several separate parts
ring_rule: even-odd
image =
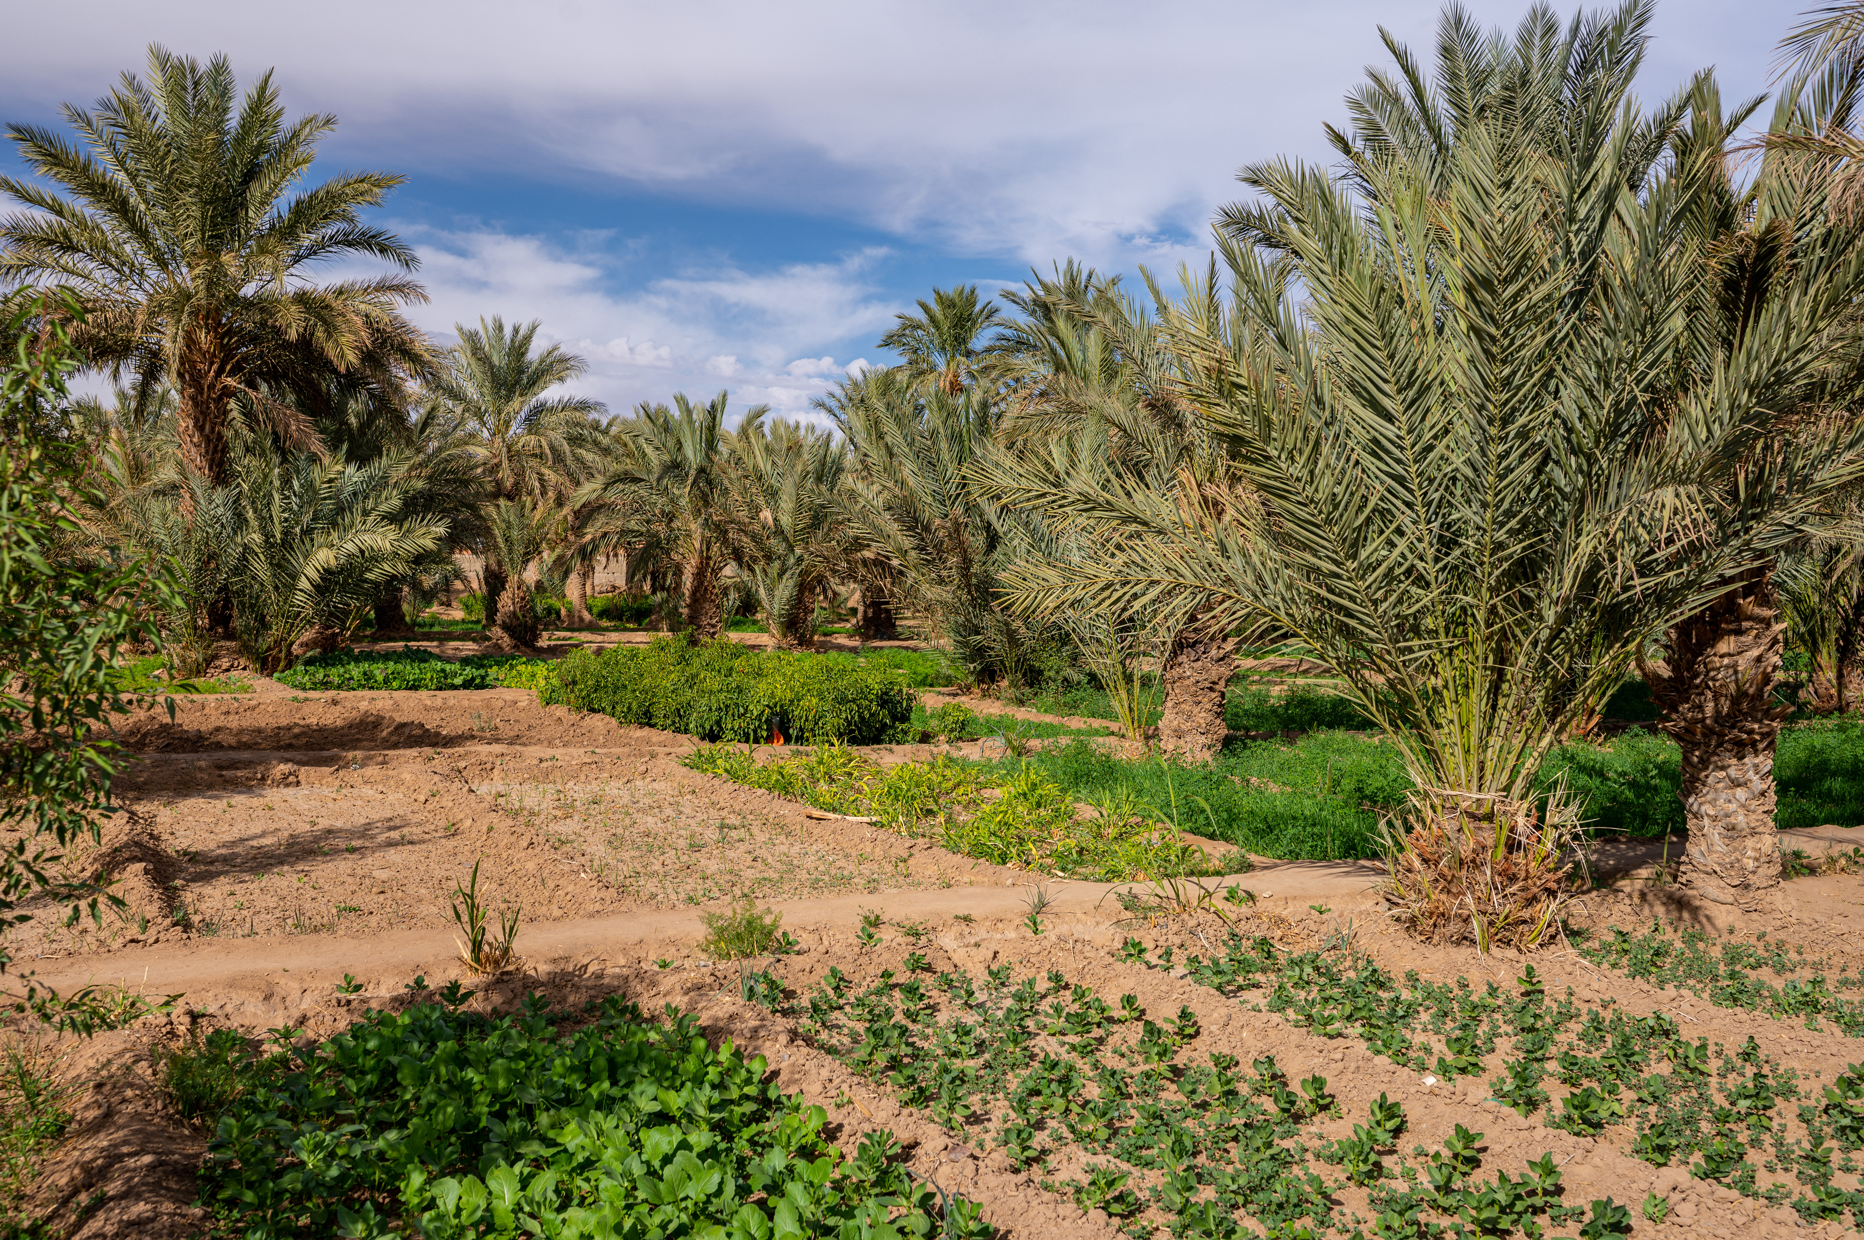
[[[675,392],[710,399],[723,382],[738,412],[770,405],[781,416],[807,418],[813,397],[867,362],[796,354],[826,339],[870,339],[898,311],[872,285],[882,257],[874,250],[839,263],[761,272],[721,265],[630,285],[626,259],[604,252],[565,254],[539,237],[492,231],[401,231],[421,255],[431,295],[425,306],[410,308],[419,326],[449,338],[455,323],[479,315],[539,319],[541,339],[589,362],[572,390],[613,412]]]

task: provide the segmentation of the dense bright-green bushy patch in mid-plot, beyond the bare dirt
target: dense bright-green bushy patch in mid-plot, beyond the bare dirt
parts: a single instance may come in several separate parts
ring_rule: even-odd
[[[913,692],[852,654],[749,651],[736,641],[576,651],[546,701],[701,740],[884,744],[906,740]]]

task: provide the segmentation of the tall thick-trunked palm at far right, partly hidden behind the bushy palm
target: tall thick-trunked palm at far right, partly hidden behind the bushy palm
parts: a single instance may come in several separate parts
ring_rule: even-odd
[[[1836,160],[1829,164],[1836,170],[1829,188],[1842,200],[1849,194],[1847,168],[1857,168],[1857,157],[1864,155],[1864,145],[1845,136],[1849,101],[1864,69],[1857,63],[1855,17],[1827,15],[1834,21],[1808,24],[1789,39],[1788,50],[1812,60],[1829,56],[1832,69],[1810,91],[1810,112],[1801,103],[1808,78],[1784,93],[1765,144],[1773,151],[1771,166],[1748,194],[1732,186],[1724,151],[1730,134],[1758,108],[1758,99],[1724,116],[1713,82],[1698,75],[1687,95],[1672,99],[1646,123],[1620,131],[1618,175],[1633,192],[1644,192],[1659,160],[1674,155],[1678,144],[1700,147],[1693,158],[1704,179],[1691,186],[1698,211],[1698,235],[1691,244],[1717,254],[1717,283],[1702,285],[1691,311],[1704,336],[1715,341],[1704,358],[1739,354],[1739,338],[1754,308],[1789,291],[1776,282],[1791,252],[1782,244],[1791,231],[1786,222],[1799,211],[1827,209],[1808,205],[1789,188],[1801,173],[1782,175],[1782,160],[1795,153]],[[1387,35],[1400,73],[1396,78],[1376,73],[1370,86],[1348,99],[1353,132],[1331,132],[1333,144],[1348,157],[1363,196],[1374,201],[1381,170],[1392,162],[1417,168],[1432,192],[1443,194],[1456,144],[1465,131],[1478,131],[1484,116],[1514,117],[1510,144],[1558,158],[1571,147],[1573,134],[1586,132],[1588,99],[1625,93],[1648,45],[1650,17],[1648,0],[1631,0],[1610,15],[1577,15],[1562,34],[1553,11],[1536,6],[1515,39],[1506,41],[1486,37],[1467,13],[1452,7],[1439,32],[1433,84],[1426,86],[1409,52]],[[1849,67],[1840,63],[1845,60]],[[1685,106],[1694,114],[1687,127],[1681,125]],[[1232,209],[1225,224],[1238,239],[1273,244],[1275,224],[1251,209]],[[1784,386],[1775,399],[1789,395],[1791,386]],[[1812,403],[1808,408],[1827,399],[1817,382],[1804,395]],[[1775,406],[1778,434],[1808,425],[1808,408]],[[1771,468],[1771,440],[1756,442],[1754,472]],[[1739,490],[1748,474],[1735,470],[1732,487]],[[1773,694],[1780,668],[1780,604],[1775,574],[1765,565],[1737,572],[1724,586],[1711,606],[1666,634],[1665,658],[1644,662],[1640,669],[1665,709],[1663,731],[1683,748],[1683,802],[1693,839],[1683,882],[1709,901],[1752,904],[1778,882],[1771,770],[1778,722],[1786,714]]]

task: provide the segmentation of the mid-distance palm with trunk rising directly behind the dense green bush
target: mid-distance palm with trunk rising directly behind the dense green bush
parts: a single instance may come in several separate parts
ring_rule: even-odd
[[[695,405],[641,405],[613,425],[613,451],[574,498],[585,556],[623,554],[630,580],[671,576],[684,597],[686,627],[697,641],[725,630],[725,567],[753,541],[733,503],[733,436],[727,393]],[[768,405],[744,414],[755,429]]]

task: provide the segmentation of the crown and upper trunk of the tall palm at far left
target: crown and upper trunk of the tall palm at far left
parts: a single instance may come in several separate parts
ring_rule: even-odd
[[[181,459],[209,485],[227,481],[235,401],[313,448],[332,373],[393,386],[427,365],[425,336],[399,311],[425,300],[414,280],[311,280],[317,263],[345,257],[416,269],[408,246],[360,214],[403,177],[341,173],[285,198],[336,117],[287,125],[270,73],[237,99],[224,56],[201,65],[160,47],[147,82],[123,75],[95,112],[63,112],[76,144],[7,127],[24,164],[63,194],[0,175],[0,196],[30,209],[0,216],[0,283],[65,285],[91,365],[166,379]]]

